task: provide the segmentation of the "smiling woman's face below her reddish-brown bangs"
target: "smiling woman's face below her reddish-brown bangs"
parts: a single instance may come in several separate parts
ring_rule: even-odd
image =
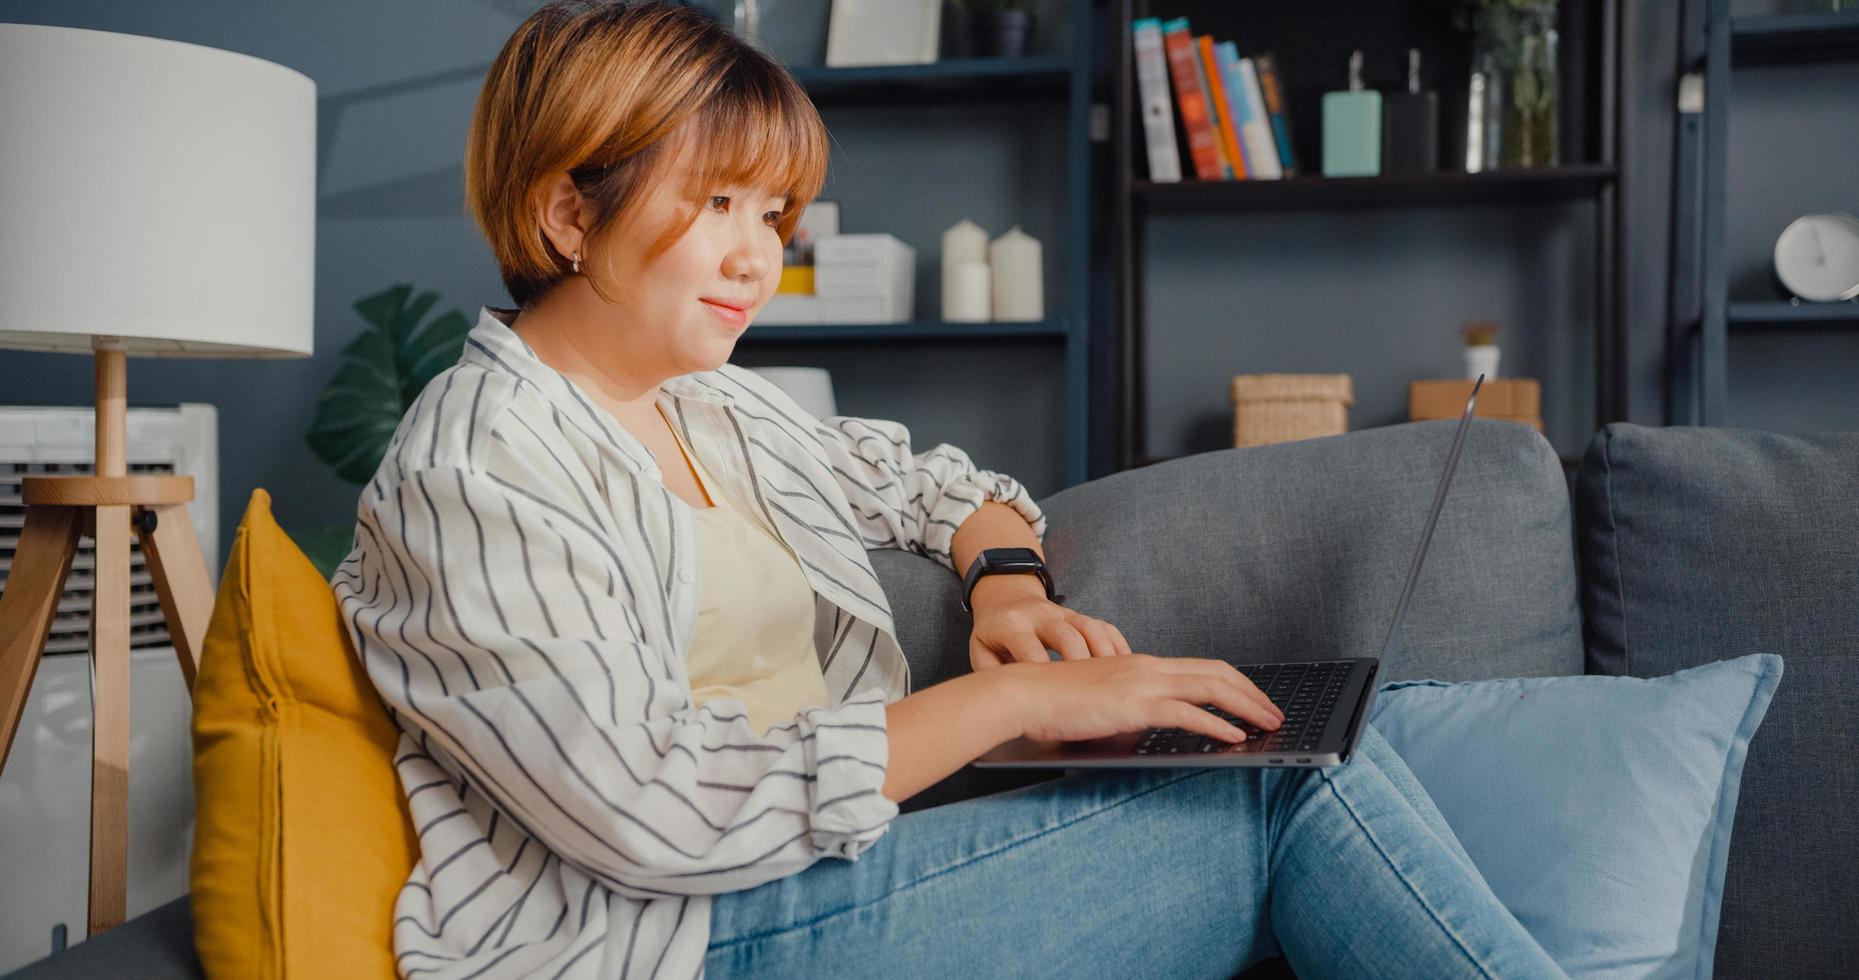
[[[775,229],[786,203],[781,193],[701,188],[701,199],[684,203],[682,188],[684,173],[658,180],[638,223],[615,229],[612,260],[600,270],[613,277],[612,288],[604,281],[600,286],[621,307],[630,353],[662,357],[664,377],[716,370],[729,361],[736,338],[781,281],[781,232]],[[647,262],[647,245],[658,229],[680,218],[680,205],[695,205],[697,219]]]

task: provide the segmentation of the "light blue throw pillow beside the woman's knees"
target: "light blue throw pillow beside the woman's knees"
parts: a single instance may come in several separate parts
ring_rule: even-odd
[[[1398,681],[1370,722],[1569,976],[1708,978],[1744,755],[1779,682],[1766,653],[1655,679]]]

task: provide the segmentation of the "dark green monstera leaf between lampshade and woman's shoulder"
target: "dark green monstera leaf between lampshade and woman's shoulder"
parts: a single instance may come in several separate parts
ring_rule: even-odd
[[[463,312],[420,324],[437,301],[437,292],[413,296],[407,285],[355,301],[368,329],[342,348],[342,368],[323,389],[309,433],[316,457],[351,483],[374,476],[400,417],[465,350],[470,320]]]

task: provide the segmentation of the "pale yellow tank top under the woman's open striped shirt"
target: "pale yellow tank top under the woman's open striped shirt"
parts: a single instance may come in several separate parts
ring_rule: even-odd
[[[740,701],[760,735],[801,709],[827,705],[812,586],[794,552],[736,508],[682,439],[679,448],[716,504],[693,508],[697,627],[684,658],[692,703]]]

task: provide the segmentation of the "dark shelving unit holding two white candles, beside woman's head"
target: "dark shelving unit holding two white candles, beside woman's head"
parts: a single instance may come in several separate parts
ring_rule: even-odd
[[[742,335],[742,346],[783,351],[807,363],[820,351],[877,353],[900,342],[935,346],[1054,344],[1063,359],[1061,480],[1080,483],[1089,446],[1089,123],[1091,123],[1091,0],[1063,0],[1071,37],[1063,54],[1021,58],[946,58],[928,65],[822,67],[790,65],[794,78],[822,112],[846,106],[909,110],[928,104],[1056,102],[1065,113],[1063,242],[1048,242],[1045,257],[1060,260],[1060,294],[1047,298],[1047,320],[961,324],[911,320],[900,324],[768,324]],[[913,242],[918,262],[939,262],[941,242]],[[918,305],[922,305],[918,298]],[[952,385],[957,379],[952,379]]]

